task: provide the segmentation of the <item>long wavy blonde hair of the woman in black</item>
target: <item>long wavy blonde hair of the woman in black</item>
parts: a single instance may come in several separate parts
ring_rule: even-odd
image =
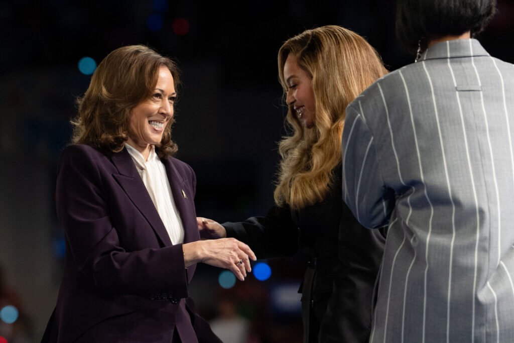
[[[287,95],[284,65],[292,54],[312,80],[315,125],[304,128],[292,105],[286,116],[292,135],[279,144],[282,157],[274,199],[300,209],[322,201],[341,163],[341,135],[346,106],[386,74],[378,53],[357,33],[340,26],[306,30],[279,50],[279,78]]]

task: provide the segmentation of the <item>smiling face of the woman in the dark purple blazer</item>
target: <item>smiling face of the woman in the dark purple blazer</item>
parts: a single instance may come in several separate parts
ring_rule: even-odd
[[[166,125],[173,118],[173,103],[176,98],[173,76],[165,66],[161,66],[158,73],[152,96],[131,111],[127,143],[136,148],[145,159],[150,154],[151,146],[160,143]]]

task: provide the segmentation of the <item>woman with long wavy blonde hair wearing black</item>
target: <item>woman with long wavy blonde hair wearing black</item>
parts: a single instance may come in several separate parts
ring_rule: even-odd
[[[341,134],[346,105],[387,70],[368,42],[339,26],[287,40],[278,67],[292,134],[280,142],[277,206],[238,223],[199,218],[198,227],[205,238],[237,238],[260,258],[304,252],[304,342],[365,342],[385,239],[342,201]]]

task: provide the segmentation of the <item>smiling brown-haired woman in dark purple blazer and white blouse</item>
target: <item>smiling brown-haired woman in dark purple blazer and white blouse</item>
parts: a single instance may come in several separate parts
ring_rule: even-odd
[[[247,245],[199,241],[191,167],[171,157],[178,69],[145,46],[111,52],[59,160],[64,275],[43,341],[219,342],[188,297],[197,262],[243,280]]]

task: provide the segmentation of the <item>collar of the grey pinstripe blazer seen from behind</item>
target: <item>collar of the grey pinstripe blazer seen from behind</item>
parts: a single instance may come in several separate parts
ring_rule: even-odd
[[[457,39],[432,45],[425,50],[419,61],[458,57],[490,56],[476,39]]]

